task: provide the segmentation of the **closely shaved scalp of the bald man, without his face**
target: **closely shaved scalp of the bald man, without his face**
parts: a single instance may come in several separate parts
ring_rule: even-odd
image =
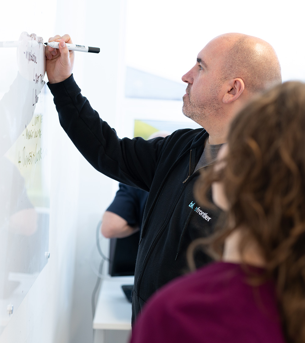
[[[282,82],[278,57],[265,40],[241,33],[227,33],[213,40],[223,40],[226,47],[221,81],[240,78],[247,91],[253,94]]]

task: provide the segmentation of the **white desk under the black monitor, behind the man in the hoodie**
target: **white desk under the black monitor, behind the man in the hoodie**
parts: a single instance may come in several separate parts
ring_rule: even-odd
[[[106,343],[106,330],[120,330],[118,343],[125,343],[131,330],[131,303],[121,285],[133,284],[133,276],[109,277],[102,280],[93,319],[94,343]]]

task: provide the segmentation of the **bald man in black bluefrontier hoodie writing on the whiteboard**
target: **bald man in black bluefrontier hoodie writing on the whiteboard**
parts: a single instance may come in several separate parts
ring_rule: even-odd
[[[46,48],[48,86],[59,120],[75,146],[101,173],[149,191],[136,263],[134,320],[146,300],[187,270],[186,249],[213,233],[219,211],[197,205],[193,187],[226,141],[232,118],[250,98],[281,82],[273,48],[262,39],[230,33],[211,40],[198,54],[187,83],[183,113],[202,129],[177,130],[166,138],[119,139],[91,108],[72,75],[74,53],[55,36]],[[211,261],[202,253],[198,265]]]

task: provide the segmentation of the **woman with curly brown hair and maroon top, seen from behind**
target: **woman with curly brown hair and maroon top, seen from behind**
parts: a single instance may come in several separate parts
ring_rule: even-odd
[[[276,86],[233,120],[214,170],[195,186],[206,204],[212,185],[225,211],[209,245],[221,260],[156,292],[132,343],[305,342],[304,132],[301,82]]]

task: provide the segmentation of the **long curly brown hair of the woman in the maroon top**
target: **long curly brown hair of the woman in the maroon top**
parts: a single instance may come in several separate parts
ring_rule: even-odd
[[[222,181],[234,218],[211,240],[221,256],[224,240],[247,227],[240,250],[255,239],[272,277],[289,343],[305,342],[305,84],[285,82],[253,100],[233,120],[225,166],[201,176],[195,196],[206,204]],[[231,221],[230,221],[231,223]]]

